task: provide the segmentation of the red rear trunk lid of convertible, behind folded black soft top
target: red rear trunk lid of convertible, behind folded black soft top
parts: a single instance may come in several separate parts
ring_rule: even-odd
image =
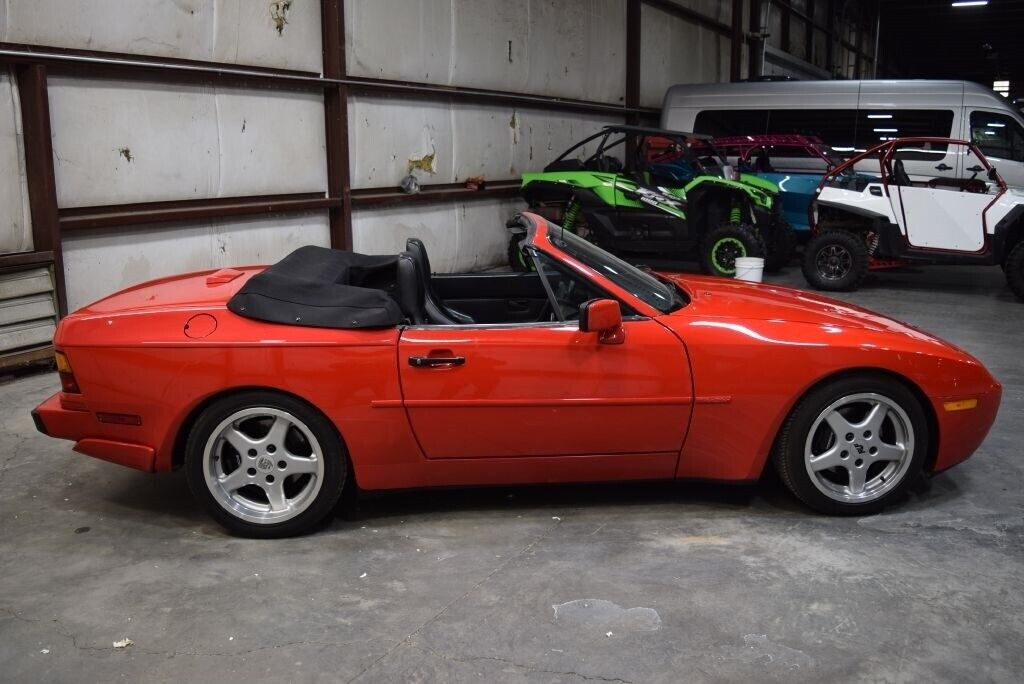
[[[93,302],[78,315],[110,315],[154,309],[222,307],[266,266],[245,266],[172,275],[127,288]]]

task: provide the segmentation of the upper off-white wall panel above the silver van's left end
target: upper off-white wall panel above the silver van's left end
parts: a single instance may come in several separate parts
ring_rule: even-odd
[[[662,106],[677,83],[729,80],[729,39],[647,5],[641,13],[640,104]]]

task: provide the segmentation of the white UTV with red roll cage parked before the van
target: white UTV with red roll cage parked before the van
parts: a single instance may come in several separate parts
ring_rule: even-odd
[[[941,161],[950,152],[955,169]],[[952,173],[906,173],[904,160],[929,157]],[[855,290],[868,270],[999,264],[1024,299],[1024,191],[1008,188],[972,142],[887,140],[828,171],[809,213],[803,269],[818,290]]]

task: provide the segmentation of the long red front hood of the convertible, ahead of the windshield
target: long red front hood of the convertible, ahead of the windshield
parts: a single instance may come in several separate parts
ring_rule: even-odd
[[[796,288],[724,277],[679,273],[662,275],[678,284],[690,296],[689,306],[676,311],[676,315],[803,323],[886,331],[940,341],[868,309]]]

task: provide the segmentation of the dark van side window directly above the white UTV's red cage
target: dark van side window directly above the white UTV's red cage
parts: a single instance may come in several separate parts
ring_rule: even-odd
[[[867,149],[891,138],[950,137],[953,125],[951,110],[861,110],[857,121],[856,147]],[[925,143],[900,147],[899,159],[940,162],[947,145]]]

